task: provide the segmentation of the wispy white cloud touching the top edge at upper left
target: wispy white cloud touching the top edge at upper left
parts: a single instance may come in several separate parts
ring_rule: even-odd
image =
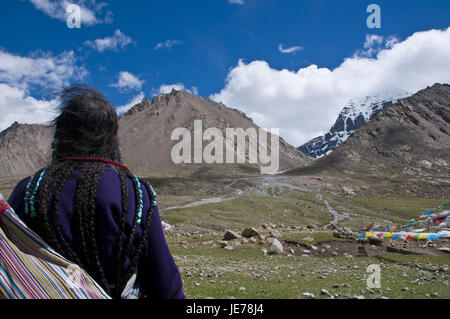
[[[66,8],[72,4],[68,0],[29,0],[34,7],[48,15],[49,17],[61,21],[66,21]],[[111,23],[112,12],[107,10],[103,14],[103,8],[107,6],[106,2],[96,3],[95,0],[83,0],[76,3],[81,9],[81,23],[82,25],[92,26],[100,23]],[[102,15],[103,17],[99,17]]]

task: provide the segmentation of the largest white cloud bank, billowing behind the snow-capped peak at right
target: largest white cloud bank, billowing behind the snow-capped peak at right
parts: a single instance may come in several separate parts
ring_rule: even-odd
[[[299,146],[327,131],[351,98],[415,93],[450,82],[450,28],[392,39],[375,57],[355,54],[333,70],[317,65],[277,70],[265,61],[240,60],[225,88],[211,98],[244,111],[262,127],[280,128],[281,136]],[[378,43],[369,38],[366,50],[370,40]]]

